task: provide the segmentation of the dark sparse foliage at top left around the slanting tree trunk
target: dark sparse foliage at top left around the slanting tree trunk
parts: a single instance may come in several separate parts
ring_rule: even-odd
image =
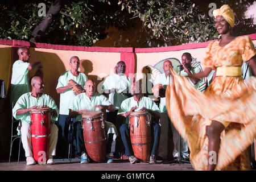
[[[47,0],[0,3],[0,38],[30,40],[32,31],[43,17],[38,16],[39,3],[46,4],[46,13],[51,7]],[[42,42],[76,46],[92,46],[104,38],[109,26],[123,28],[125,18],[118,5],[109,1],[65,1],[51,26],[43,35]]]

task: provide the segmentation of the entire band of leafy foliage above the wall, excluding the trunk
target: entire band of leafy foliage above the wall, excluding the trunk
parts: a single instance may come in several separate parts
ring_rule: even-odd
[[[64,1],[64,0],[63,0]],[[233,2],[233,0],[207,0],[219,8],[228,3],[236,13],[236,36],[253,34],[253,19],[245,19],[244,12],[253,0]],[[47,28],[42,42],[74,46],[93,46],[106,37],[105,30],[110,26],[119,29],[131,27],[130,16],[139,18],[148,35],[156,40],[181,43],[206,42],[216,39],[218,32],[208,10],[202,12],[195,0],[86,0],[64,1],[61,13]],[[30,40],[32,31],[42,21],[38,16],[39,3],[46,4],[46,13],[51,1],[26,0],[0,2],[0,39]],[[206,4],[208,2],[205,2]],[[207,6],[205,6],[207,7]],[[127,12],[127,13],[126,13]],[[128,15],[127,15],[128,14]],[[126,16],[124,16],[126,15]],[[134,35],[137,36],[137,35]]]

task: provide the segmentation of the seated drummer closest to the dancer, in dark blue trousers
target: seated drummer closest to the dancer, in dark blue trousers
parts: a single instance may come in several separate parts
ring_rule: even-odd
[[[125,155],[129,156],[131,164],[137,163],[138,159],[134,156],[133,148],[131,147],[130,131],[129,131],[129,115],[133,111],[148,111],[151,118],[151,131],[154,133],[154,144],[150,155],[150,164],[156,163],[155,154],[158,150],[160,139],[160,125],[158,123],[160,118],[160,110],[151,98],[142,97],[142,85],[140,82],[134,82],[131,85],[131,95],[133,97],[127,98],[121,104],[118,114],[126,119],[125,124],[120,127],[121,138],[125,146]],[[153,119],[154,118],[154,119]]]

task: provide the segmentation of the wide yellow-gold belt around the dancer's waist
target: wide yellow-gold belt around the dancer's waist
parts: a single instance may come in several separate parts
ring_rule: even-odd
[[[216,76],[241,76],[242,67],[217,67]]]

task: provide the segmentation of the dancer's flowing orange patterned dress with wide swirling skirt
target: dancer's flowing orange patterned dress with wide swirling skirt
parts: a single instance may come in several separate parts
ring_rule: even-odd
[[[210,42],[204,67],[241,67],[255,55],[253,42],[240,36],[224,47]],[[172,84],[166,90],[166,106],[172,123],[191,151],[190,160],[196,170],[207,170],[208,138],[206,126],[212,120],[225,126],[221,133],[216,170],[248,170],[246,150],[256,137],[256,78],[245,83],[242,77],[218,76],[204,93],[174,71]],[[214,162],[210,158],[209,162]]]

